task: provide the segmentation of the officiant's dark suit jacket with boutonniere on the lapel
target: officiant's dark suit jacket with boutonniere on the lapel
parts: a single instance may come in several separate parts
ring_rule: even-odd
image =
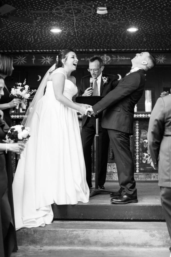
[[[108,82],[104,84],[102,77],[108,77],[109,78]],[[118,77],[116,75],[109,75],[109,74],[102,73],[102,77],[101,77],[101,84],[100,84],[100,95],[105,96],[116,87],[116,85],[119,83],[119,81],[117,80]],[[91,78],[91,75],[88,75],[81,79],[80,90],[79,90],[78,96],[82,96],[84,94],[84,91],[89,87],[90,78]],[[100,115],[100,117],[101,116],[102,115]],[[86,123],[87,117],[88,117],[87,115],[83,116],[82,127]]]

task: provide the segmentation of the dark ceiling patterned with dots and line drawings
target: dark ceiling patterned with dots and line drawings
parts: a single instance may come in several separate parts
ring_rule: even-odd
[[[170,0],[0,0],[0,51],[171,51]],[[108,13],[97,14],[97,7]],[[139,30],[129,33],[135,26]],[[53,27],[61,33],[50,32]]]

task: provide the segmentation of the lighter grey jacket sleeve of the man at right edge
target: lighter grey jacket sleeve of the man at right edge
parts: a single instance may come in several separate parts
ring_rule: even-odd
[[[148,148],[152,158],[154,167],[158,167],[158,156],[160,151],[160,144],[164,134],[164,101],[158,98],[149,121],[148,126]]]

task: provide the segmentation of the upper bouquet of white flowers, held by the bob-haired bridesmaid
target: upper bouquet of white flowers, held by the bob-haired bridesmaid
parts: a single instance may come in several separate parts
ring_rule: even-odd
[[[25,79],[23,84],[16,83],[16,85],[11,89],[10,97],[24,100],[24,99],[28,99],[30,95],[34,94],[35,92],[36,92],[36,89],[30,91],[30,87],[26,85],[26,79]],[[17,105],[15,108],[19,109],[19,105]],[[26,105],[23,102],[21,102],[21,108],[26,109]]]

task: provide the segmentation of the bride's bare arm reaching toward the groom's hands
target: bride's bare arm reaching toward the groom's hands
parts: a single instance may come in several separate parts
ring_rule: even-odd
[[[67,97],[63,95],[64,92],[64,85],[65,85],[65,75],[62,73],[55,73],[52,75],[52,84],[54,89],[54,94],[56,100],[58,100],[63,105],[70,107],[74,110],[79,111],[82,115],[85,115],[86,107],[77,105],[70,101]]]

